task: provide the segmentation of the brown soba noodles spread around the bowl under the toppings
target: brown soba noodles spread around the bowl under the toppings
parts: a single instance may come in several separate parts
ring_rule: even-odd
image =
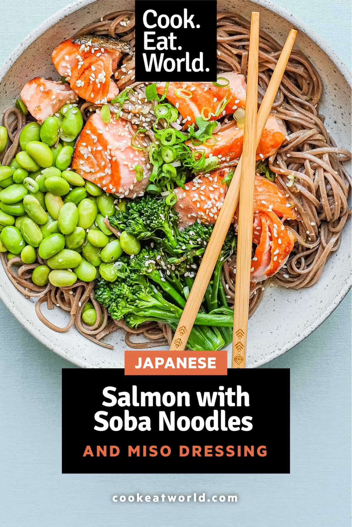
[[[234,71],[246,76],[249,32],[250,24],[245,18],[232,13],[217,15],[218,73]],[[89,33],[118,37],[129,42],[134,50],[134,13],[111,13],[102,17],[99,22],[82,28],[76,36]],[[262,31],[259,51],[259,104],[280,52],[281,46]],[[134,57],[126,58],[126,62],[123,62],[122,57],[115,77],[120,91],[126,87],[133,87],[139,100],[143,100],[145,84],[134,82]],[[272,108],[272,112],[286,125],[288,136],[278,152],[269,159],[269,167],[276,175],[275,182],[295,207],[298,217],[297,220],[289,222],[297,240],[294,249],[287,264],[273,278],[275,282],[287,288],[299,289],[317,282],[328,258],[340,245],[341,231],[350,214],[347,198],[351,180],[343,162],[348,161],[351,154],[348,150],[337,147],[325,129],[324,116],[319,114],[322,89],[315,67],[301,52],[293,51]],[[147,102],[144,99],[144,103],[149,105],[151,113],[148,117],[150,125],[153,125],[155,102]],[[131,126],[138,126],[140,116],[130,111],[131,104],[133,102],[127,100],[123,105],[121,118],[130,121]],[[80,108],[84,119],[87,120],[97,106],[81,101]],[[222,126],[226,126],[231,120],[232,117],[226,116],[221,121]],[[20,111],[11,108],[5,112],[3,124],[8,131],[9,143],[1,156],[3,164],[8,164],[14,158],[18,150],[18,137],[25,123],[26,116]],[[145,122],[143,125],[148,128]],[[151,129],[149,136],[150,140],[153,140]],[[21,265],[20,257],[7,262],[4,253],[1,254],[1,259],[7,276],[15,287],[27,298],[39,298],[36,302],[37,316],[55,331],[67,331],[75,325],[82,335],[108,348],[112,346],[103,343],[102,339],[120,328],[126,331],[126,344],[130,347],[161,346],[170,344],[172,340],[172,330],[166,325],[148,323],[138,329],[131,329],[123,321],[111,320],[106,308],[94,299],[94,282],[87,284],[77,281],[71,287],[62,288],[49,284],[41,288],[31,282],[33,268],[44,263],[39,257],[39,264],[33,265]],[[13,268],[14,264],[17,264],[17,270]],[[230,306],[233,305],[234,299],[235,265],[235,257],[226,261],[222,276]],[[251,291],[250,315],[261,301],[263,285],[264,282],[259,282]],[[81,320],[87,301],[92,302],[97,311],[97,322],[92,327],[86,326]],[[47,320],[41,311],[44,302],[49,309],[58,306],[68,311],[68,325],[61,328]],[[144,335],[147,342],[135,343],[131,340],[132,334]]]

